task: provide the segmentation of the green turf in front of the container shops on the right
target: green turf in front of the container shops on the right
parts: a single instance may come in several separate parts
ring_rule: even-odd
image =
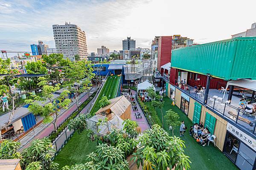
[[[164,97],[164,101],[163,114],[165,115],[166,111],[172,109],[179,114],[180,120],[184,120],[185,125],[188,127],[185,136],[182,136],[181,139],[185,141],[185,154],[190,157],[190,161],[192,162],[190,164],[191,170],[238,170],[238,168],[224,155],[224,153],[218,150],[217,147],[214,147],[213,144],[210,143],[209,146],[203,147],[199,145],[192,136],[189,136],[189,128],[192,126],[190,119],[176,105],[172,105],[171,99]],[[162,114],[158,108],[157,115],[162,121]],[[171,130],[169,130],[169,125],[167,125],[165,119],[164,129],[172,135]],[[175,128],[175,136],[179,136],[179,129],[179,127]]]

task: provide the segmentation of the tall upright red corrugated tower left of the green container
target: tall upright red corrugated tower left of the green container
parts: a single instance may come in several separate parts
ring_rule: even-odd
[[[160,71],[162,65],[171,62],[172,57],[172,36],[161,36],[158,39],[157,70]]]

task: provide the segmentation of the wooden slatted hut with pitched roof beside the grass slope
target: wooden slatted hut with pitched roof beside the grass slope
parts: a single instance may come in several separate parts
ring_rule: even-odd
[[[130,119],[131,118],[131,103],[126,99],[125,96],[119,96],[113,99],[110,99],[110,105],[100,108],[95,114],[105,113],[108,117],[108,120],[111,120],[111,114],[114,113],[116,116],[119,116],[121,119]],[[109,116],[108,116],[109,115]]]

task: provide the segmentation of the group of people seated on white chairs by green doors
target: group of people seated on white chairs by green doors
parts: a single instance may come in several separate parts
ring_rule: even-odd
[[[212,140],[212,135],[207,127],[204,128],[203,122],[195,123],[190,127],[189,135],[196,139],[196,142],[205,146],[209,141]]]

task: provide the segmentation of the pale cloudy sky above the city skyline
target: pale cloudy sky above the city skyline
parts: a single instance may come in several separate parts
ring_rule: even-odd
[[[122,50],[126,37],[141,48],[175,34],[202,44],[249,29],[255,6],[255,0],[0,0],[0,50],[31,51],[38,40],[54,48],[52,25],[65,22],[85,31],[89,53],[102,45]]]

